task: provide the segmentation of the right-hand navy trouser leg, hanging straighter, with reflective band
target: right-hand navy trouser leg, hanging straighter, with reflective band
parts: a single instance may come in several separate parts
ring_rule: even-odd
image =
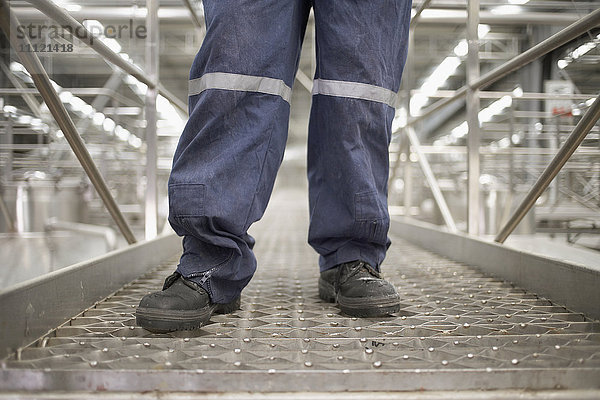
[[[388,145],[406,59],[410,0],[315,0],[309,123],[309,243],[321,271],[379,269],[387,237]]]

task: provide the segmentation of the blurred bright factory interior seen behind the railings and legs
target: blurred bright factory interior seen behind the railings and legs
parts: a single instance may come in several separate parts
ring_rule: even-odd
[[[123,59],[148,70],[145,1],[55,1]],[[191,62],[202,43],[200,2],[161,0],[156,43],[161,84],[185,103]],[[21,24],[56,26],[27,1],[11,1]],[[415,4],[415,11],[419,4]],[[482,1],[480,73],[505,63],[597,9],[595,1]],[[435,101],[466,83],[464,1],[436,0],[420,15],[400,92],[390,147],[390,210],[435,224],[444,220],[418,153],[402,128]],[[123,27],[111,35],[112,27]],[[107,29],[108,28],[108,29]],[[35,32],[33,32],[35,34]],[[60,100],[74,120],[126,220],[144,237],[147,195],[147,86],[62,32],[58,52],[38,51]],[[141,33],[141,35],[138,35]],[[44,36],[45,33],[38,32]],[[108,34],[108,36],[107,36]],[[31,35],[30,35],[31,36]],[[46,35],[48,36],[48,35]],[[37,45],[43,45],[39,39]],[[48,38],[46,37],[46,39]],[[64,45],[71,44],[71,51]],[[61,51],[62,50],[62,51]],[[600,89],[600,30],[593,29],[482,91],[479,119],[478,231],[495,235],[573,130]],[[126,242],[41,101],[31,77],[2,36],[0,254],[19,271],[2,271],[3,286],[51,271]],[[280,184],[304,186],[310,78],[314,71],[311,16],[293,91],[289,140]],[[186,115],[157,99],[157,230],[167,214],[166,180]],[[464,99],[414,125],[456,226],[467,230],[467,123]],[[517,233],[600,248],[600,136],[594,127]],[[77,225],[80,224],[80,225]],[[85,225],[82,225],[85,224]],[[168,229],[168,227],[166,228]],[[538,243],[537,239],[536,242]],[[35,254],[35,255],[34,255]],[[10,261],[8,261],[10,260]],[[33,264],[33,265],[32,265]],[[35,265],[35,266],[34,266]]]

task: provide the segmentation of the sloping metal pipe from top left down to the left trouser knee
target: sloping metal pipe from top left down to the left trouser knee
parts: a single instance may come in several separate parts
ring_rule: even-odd
[[[83,43],[87,44],[92,50],[100,54],[106,61],[110,61],[123,71],[127,72],[138,81],[146,84],[148,88],[158,88],[159,93],[169,100],[173,105],[182,110],[187,114],[187,106],[185,103],[175,97],[171,92],[165,90],[157,82],[153,81],[151,77],[146,75],[138,66],[130,63],[123,59],[119,54],[112,51],[107,45],[101,40],[96,38],[90,31],[88,31],[79,21],[69,15],[65,10],[58,7],[49,0],[27,0],[35,8],[46,14],[49,18],[58,22],[61,26],[68,26],[73,32],[82,32],[77,35],[77,38]],[[151,34],[151,33],[150,33]],[[182,107],[183,105],[183,107]]]

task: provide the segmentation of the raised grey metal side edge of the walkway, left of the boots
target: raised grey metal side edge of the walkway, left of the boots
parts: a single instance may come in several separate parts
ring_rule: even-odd
[[[174,257],[180,247],[177,235],[161,235],[0,291],[0,359]]]

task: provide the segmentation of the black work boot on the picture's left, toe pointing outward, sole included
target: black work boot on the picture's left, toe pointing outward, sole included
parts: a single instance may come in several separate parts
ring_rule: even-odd
[[[162,291],[147,294],[135,311],[136,323],[154,333],[198,329],[215,314],[240,308],[240,297],[217,304],[200,285],[175,272],[165,280]]]

